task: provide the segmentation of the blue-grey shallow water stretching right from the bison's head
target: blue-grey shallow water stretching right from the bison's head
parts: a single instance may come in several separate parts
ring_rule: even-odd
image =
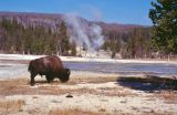
[[[177,64],[163,63],[106,63],[106,62],[65,62],[73,71],[90,71],[117,74],[177,75]]]

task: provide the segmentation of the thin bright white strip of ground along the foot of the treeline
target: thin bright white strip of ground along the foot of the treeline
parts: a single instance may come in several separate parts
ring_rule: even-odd
[[[22,55],[22,54],[0,54],[0,60],[33,60],[45,55]],[[60,56],[62,61],[71,62],[113,62],[113,63],[169,63],[177,64],[177,61],[157,61],[157,60],[114,60],[114,59],[94,59],[94,58],[76,58]]]

